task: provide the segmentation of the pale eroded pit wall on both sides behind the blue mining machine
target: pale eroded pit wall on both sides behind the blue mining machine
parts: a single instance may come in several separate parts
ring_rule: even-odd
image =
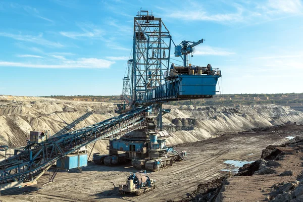
[[[226,132],[303,121],[302,112],[276,105],[236,108],[165,105],[163,108],[171,109],[171,113],[163,117],[163,123],[172,136],[168,139],[169,144],[194,142]],[[113,103],[0,95],[0,144],[10,148],[25,145],[26,137],[32,130],[49,130],[54,135],[80,129],[116,116],[114,109]],[[90,114],[91,112],[93,113]],[[106,154],[107,145],[108,140],[98,141],[93,153]],[[91,147],[89,145],[88,152]]]

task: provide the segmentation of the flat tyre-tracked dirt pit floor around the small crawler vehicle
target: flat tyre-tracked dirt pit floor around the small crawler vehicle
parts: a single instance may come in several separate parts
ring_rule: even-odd
[[[146,194],[120,195],[117,187],[126,180],[131,165],[118,167],[89,163],[82,173],[60,172],[55,182],[45,174],[36,186],[5,191],[3,201],[166,201],[178,200],[196,189],[200,183],[218,178],[228,166],[225,160],[253,161],[260,158],[262,149],[269,144],[282,144],[288,136],[302,136],[303,125],[256,129],[236,134],[225,134],[205,141],[178,145],[187,151],[187,161],[175,163],[171,168],[151,173],[156,190]]]

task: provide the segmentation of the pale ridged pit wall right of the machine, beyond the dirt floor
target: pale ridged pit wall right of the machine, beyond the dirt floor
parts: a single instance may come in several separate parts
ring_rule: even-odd
[[[163,106],[171,109],[164,115],[165,125],[190,128],[173,130],[169,127],[171,144],[211,138],[216,134],[243,131],[286,123],[302,123],[303,113],[290,107],[255,105],[241,107]]]

